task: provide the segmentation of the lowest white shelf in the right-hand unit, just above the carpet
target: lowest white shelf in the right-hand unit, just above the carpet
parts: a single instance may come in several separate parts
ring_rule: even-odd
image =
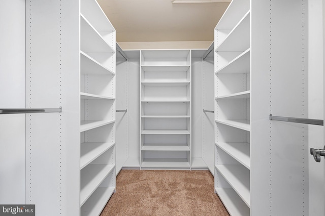
[[[232,188],[215,188],[219,198],[232,216],[249,216],[249,207]]]

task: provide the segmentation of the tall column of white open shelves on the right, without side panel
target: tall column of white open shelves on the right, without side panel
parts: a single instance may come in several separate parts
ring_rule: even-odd
[[[215,192],[250,215],[250,1],[232,1],[215,27]]]

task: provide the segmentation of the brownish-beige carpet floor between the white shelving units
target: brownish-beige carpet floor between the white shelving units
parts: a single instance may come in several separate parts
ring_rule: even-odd
[[[229,215],[206,170],[121,170],[101,216]]]

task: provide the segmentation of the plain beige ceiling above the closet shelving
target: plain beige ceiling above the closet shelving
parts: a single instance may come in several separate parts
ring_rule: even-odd
[[[229,3],[173,4],[171,0],[98,0],[116,41],[213,41]]]

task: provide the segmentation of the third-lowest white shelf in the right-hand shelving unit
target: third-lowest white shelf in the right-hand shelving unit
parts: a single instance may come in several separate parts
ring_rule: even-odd
[[[216,145],[250,169],[249,143],[216,143]]]

